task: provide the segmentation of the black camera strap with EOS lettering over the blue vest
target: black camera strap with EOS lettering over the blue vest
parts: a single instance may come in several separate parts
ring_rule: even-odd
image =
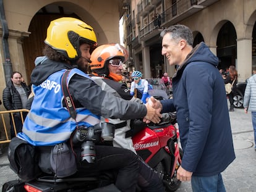
[[[67,76],[69,75],[69,72],[70,70],[66,70],[66,72],[64,72],[64,74],[62,75],[61,88],[64,94],[64,100],[66,102],[67,110],[69,111],[70,116],[75,120],[75,118],[77,117],[77,112],[75,111],[75,105],[72,96],[70,95],[69,89],[67,88]],[[75,122],[77,121],[75,120]]]

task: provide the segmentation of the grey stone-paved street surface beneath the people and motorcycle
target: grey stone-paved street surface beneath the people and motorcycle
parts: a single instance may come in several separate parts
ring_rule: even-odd
[[[229,112],[233,132],[236,159],[223,172],[223,180],[227,192],[254,192],[256,191],[256,152],[254,151],[254,132],[251,113],[245,114],[243,109]],[[224,146],[223,146],[224,147]],[[9,168],[9,161],[4,154],[0,155],[0,186],[3,183],[17,178]],[[2,187],[1,190],[2,191]],[[182,182],[179,192],[192,191],[190,182]]]

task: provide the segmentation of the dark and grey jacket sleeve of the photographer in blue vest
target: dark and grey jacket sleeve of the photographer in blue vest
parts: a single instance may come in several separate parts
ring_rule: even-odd
[[[147,108],[137,102],[126,101],[101,90],[100,86],[90,79],[74,75],[69,81],[72,98],[93,114],[111,119],[137,119],[145,117]]]

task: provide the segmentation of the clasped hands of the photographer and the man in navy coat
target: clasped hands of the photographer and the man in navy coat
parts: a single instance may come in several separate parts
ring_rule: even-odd
[[[159,123],[160,118],[162,117],[162,105],[161,102],[152,96],[147,99],[147,103],[145,104],[147,107],[147,115],[143,118],[143,122],[145,123]]]

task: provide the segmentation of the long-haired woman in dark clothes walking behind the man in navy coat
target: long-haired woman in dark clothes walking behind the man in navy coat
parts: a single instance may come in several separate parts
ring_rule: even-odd
[[[233,81],[234,81],[234,83],[233,83]],[[226,78],[224,78],[224,83],[225,84],[230,83],[231,85],[233,85],[232,91],[229,94],[227,94],[227,96],[228,96],[229,103],[230,103],[229,111],[234,111],[234,99],[233,98],[237,92],[237,88],[236,88],[237,70],[234,65],[229,66],[228,74],[226,75]]]

